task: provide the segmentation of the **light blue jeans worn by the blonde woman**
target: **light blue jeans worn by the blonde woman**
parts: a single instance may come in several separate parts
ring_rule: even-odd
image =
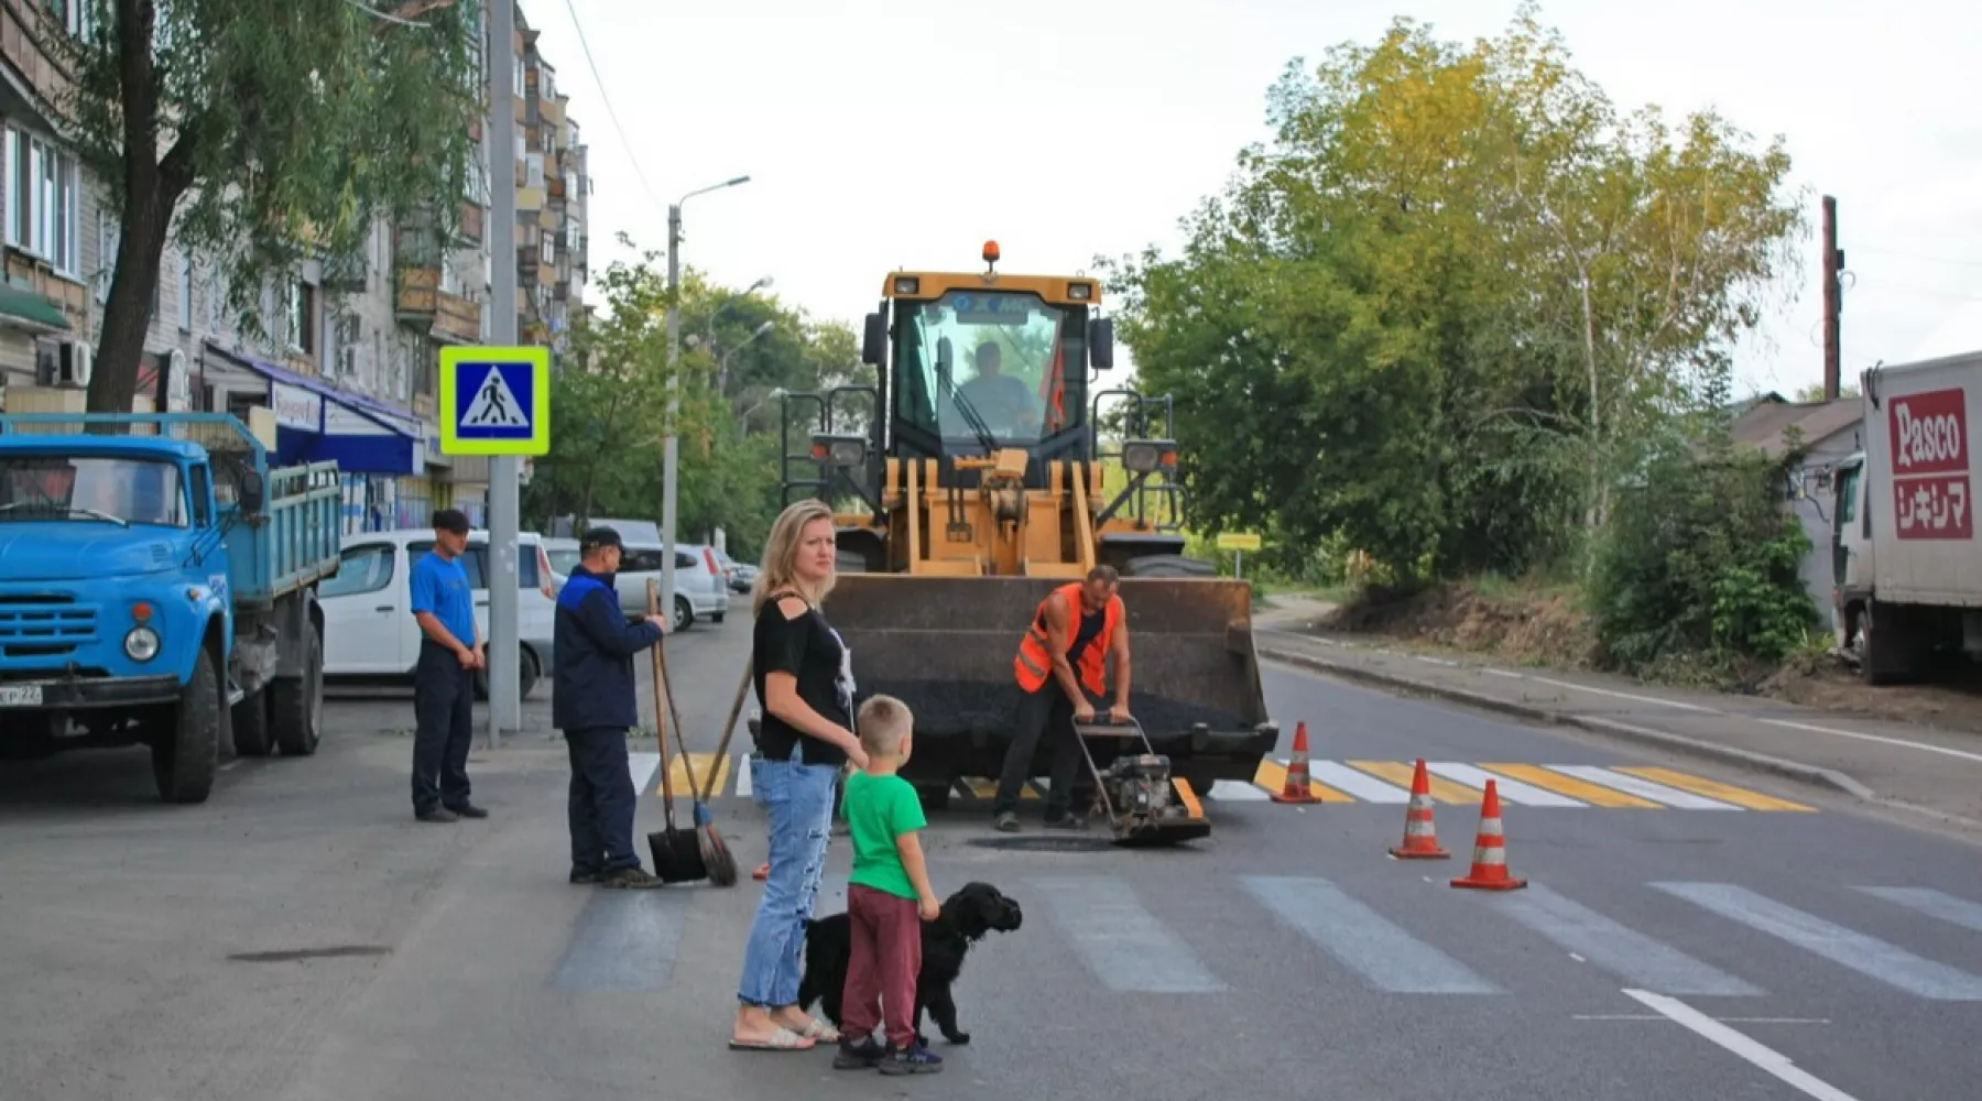
[[[747,1006],[797,1004],[805,923],[813,917],[819,881],[826,873],[832,792],[840,770],[805,764],[801,752],[793,749],[787,760],[751,756],[749,762],[751,796],[771,816],[771,873],[743,947],[737,1000]]]

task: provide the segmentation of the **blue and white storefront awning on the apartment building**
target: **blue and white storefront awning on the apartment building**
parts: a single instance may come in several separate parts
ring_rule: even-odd
[[[210,341],[206,349],[268,378],[268,408],[275,412],[274,461],[335,461],[345,473],[426,471],[426,432],[412,414]]]

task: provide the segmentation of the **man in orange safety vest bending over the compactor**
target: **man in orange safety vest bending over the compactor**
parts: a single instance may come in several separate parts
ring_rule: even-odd
[[[1080,735],[1074,725],[1094,721],[1094,701],[1108,691],[1110,657],[1116,665],[1116,701],[1108,717],[1128,721],[1128,622],[1116,592],[1120,584],[1122,576],[1114,566],[1094,566],[1084,580],[1048,592],[1019,640],[1013,673],[1025,695],[991,802],[993,826],[1005,834],[1019,830],[1019,790],[1031,772],[1039,737],[1048,729],[1054,741],[1046,826],[1080,828],[1072,814],[1074,778],[1080,770]]]

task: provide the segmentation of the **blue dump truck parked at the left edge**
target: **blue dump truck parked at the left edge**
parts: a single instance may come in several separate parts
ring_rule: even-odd
[[[0,756],[143,745],[204,802],[226,747],[313,754],[341,513],[230,414],[0,416]]]

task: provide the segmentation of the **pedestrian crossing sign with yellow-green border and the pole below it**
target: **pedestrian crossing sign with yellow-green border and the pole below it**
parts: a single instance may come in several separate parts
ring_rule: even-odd
[[[521,729],[517,695],[517,477],[519,455],[551,450],[551,349],[440,349],[440,453],[490,463],[490,745]],[[507,461],[503,461],[507,459]]]

